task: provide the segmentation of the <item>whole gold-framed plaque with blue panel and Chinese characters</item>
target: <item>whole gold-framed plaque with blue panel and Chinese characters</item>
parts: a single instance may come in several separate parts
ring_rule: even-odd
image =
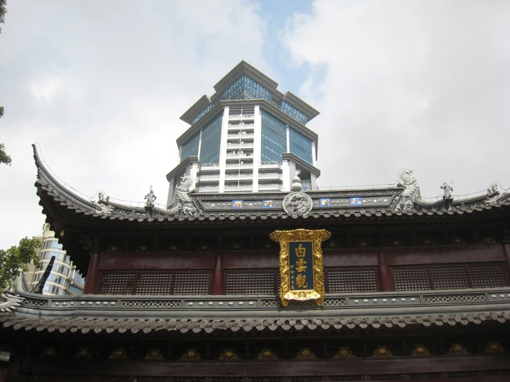
[[[324,261],[322,241],[331,237],[326,230],[275,231],[269,235],[279,243],[279,297],[282,305],[291,300],[324,303]]]

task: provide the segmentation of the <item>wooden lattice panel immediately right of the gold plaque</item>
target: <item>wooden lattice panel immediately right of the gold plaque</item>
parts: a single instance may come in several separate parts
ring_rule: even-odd
[[[327,270],[328,293],[377,292],[375,268],[345,268]]]

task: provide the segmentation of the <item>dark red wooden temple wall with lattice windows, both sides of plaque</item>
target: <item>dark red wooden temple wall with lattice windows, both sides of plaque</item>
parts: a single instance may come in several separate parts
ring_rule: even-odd
[[[509,245],[326,248],[326,292],[510,285]],[[87,294],[275,294],[278,251],[94,253]]]

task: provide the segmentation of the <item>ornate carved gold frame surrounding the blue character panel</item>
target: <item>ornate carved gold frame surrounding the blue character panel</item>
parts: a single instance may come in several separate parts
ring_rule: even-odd
[[[315,300],[322,306],[326,290],[324,288],[324,260],[322,259],[322,241],[331,237],[326,230],[292,230],[275,231],[269,235],[271,240],[279,243],[279,297],[282,305],[287,306],[289,301]],[[288,243],[291,241],[311,241],[313,258],[313,289],[291,290]]]

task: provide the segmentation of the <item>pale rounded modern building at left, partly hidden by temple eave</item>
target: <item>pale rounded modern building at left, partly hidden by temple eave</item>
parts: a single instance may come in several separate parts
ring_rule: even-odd
[[[45,224],[43,228],[39,256],[43,262],[42,268],[25,275],[30,290],[39,283],[52,256],[55,256],[55,263],[44,284],[43,294],[68,295],[84,292],[85,279],[77,272],[76,265],[73,265],[66,251],[62,250],[62,245],[55,238],[55,232],[49,229],[49,224]]]

